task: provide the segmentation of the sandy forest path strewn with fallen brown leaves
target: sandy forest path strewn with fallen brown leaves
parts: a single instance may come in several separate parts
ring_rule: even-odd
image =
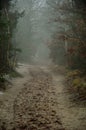
[[[0,95],[0,119],[6,130],[86,129],[86,109],[69,101],[63,75],[32,65],[21,65],[18,71],[24,77],[13,79],[12,88]]]

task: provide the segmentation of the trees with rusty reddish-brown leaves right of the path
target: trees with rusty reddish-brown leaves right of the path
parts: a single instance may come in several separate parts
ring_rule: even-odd
[[[80,5],[80,2],[77,1],[77,4]],[[84,3],[84,1],[81,3]],[[53,22],[61,24],[62,27],[59,28],[57,25],[58,31],[49,45],[51,57],[55,62],[58,61],[60,56],[60,59],[66,59],[63,62],[66,61],[66,65],[70,69],[79,69],[86,72],[86,9],[84,6],[77,8],[75,4],[68,1],[64,1],[63,4],[57,2],[56,5],[53,6],[54,11],[60,12],[63,17],[53,19]],[[63,51],[60,51],[62,48]],[[59,51],[60,53],[58,53]],[[61,55],[62,52],[63,55]]]

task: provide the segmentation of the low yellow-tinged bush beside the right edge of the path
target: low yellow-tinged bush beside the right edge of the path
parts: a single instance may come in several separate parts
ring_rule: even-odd
[[[67,86],[72,94],[86,98],[86,78],[79,70],[68,71],[66,74]]]

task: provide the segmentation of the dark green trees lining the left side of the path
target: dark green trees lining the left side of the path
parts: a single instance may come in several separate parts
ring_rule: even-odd
[[[0,86],[6,81],[4,75],[15,71],[17,55],[21,52],[11,39],[17,19],[17,12],[9,14],[6,8],[0,11]]]

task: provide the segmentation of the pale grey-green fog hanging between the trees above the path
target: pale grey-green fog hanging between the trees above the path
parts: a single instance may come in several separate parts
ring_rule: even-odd
[[[46,0],[17,0],[16,5],[10,7],[10,10],[24,12],[18,19],[13,34],[13,41],[22,50],[19,61],[29,64],[50,64],[47,41],[52,39],[57,25],[49,23],[53,14]]]

